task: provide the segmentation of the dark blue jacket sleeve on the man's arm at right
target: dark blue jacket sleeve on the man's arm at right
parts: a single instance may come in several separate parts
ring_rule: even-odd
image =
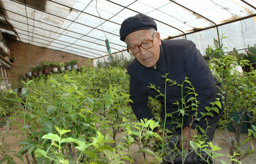
[[[207,62],[192,41],[188,41],[185,45],[184,69],[189,77],[188,80],[195,88],[195,92],[198,93],[197,101],[199,101],[199,105],[197,117],[199,118],[201,112],[206,112],[205,107],[210,106],[211,102],[216,101],[217,86]],[[192,112],[191,114],[194,113]],[[213,114],[214,116],[207,116],[208,125],[219,120],[218,113],[213,112]],[[199,122],[194,122],[192,128],[195,128],[197,124],[205,127],[207,125],[205,117]]]

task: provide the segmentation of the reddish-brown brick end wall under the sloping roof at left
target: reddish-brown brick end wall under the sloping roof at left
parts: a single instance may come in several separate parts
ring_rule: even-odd
[[[77,63],[77,68],[80,66],[87,67],[89,64],[89,58],[42,48],[40,46],[31,45],[9,38],[6,40],[8,41],[8,48],[11,51],[11,56],[14,58],[12,68],[9,70],[9,78],[12,84],[15,80],[18,80],[23,73],[30,72],[31,67],[40,65],[41,61],[56,61],[58,63],[65,63],[66,61],[78,59],[79,62]],[[91,65],[93,65],[93,61],[91,61]]]

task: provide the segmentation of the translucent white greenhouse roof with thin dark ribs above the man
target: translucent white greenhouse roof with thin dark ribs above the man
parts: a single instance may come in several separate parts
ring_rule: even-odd
[[[1,0],[0,5],[0,28],[8,37],[92,59],[125,51],[121,23],[139,13],[157,22],[161,39],[193,40],[202,54],[224,33],[229,50],[256,43],[255,0]]]

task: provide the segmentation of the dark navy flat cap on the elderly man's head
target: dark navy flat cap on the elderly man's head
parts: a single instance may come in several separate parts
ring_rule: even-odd
[[[155,20],[149,16],[137,14],[129,17],[122,22],[119,31],[120,40],[124,41],[125,37],[134,31],[152,28],[157,31],[157,24]]]

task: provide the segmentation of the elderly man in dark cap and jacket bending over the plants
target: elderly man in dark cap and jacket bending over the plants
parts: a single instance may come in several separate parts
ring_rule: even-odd
[[[201,112],[206,112],[205,107],[211,106],[211,102],[215,102],[217,98],[221,99],[221,96],[217,95],[219,92],[217,85],[219,87],[221,85],[216,84],[217,81],[212,76],[205,59],[192,41],[185,39],[161,40],[156,22],[151,17],[142,14],[129,17],[122,22],[120,39],[127,44],[127,51],[136,58],[128,65],[127,70],[130,75],[130,98],[133,101],[130,105],[139,121],[145,118],[156,120],[147,106],[148,96],[161,102],[160,116],[161,119],[165,118],[164,97],[158,96],[159,92],[148,86],[153,84],[161,93],[165,93],[166,74],[168,74],[168,79],[176,81],[178,84],[182,84],[186,77],[191,82],[198,94],[197,101],[200,102],[197,111],[198,117],[201,116]],[[185,83],[182,87],[183,97],[188,90],[186,86],[189,85]],[[182,114],[176,112],[181,109],[176,102],[180,102],[182,98],[182,88],[169,83],[166,86],[166,113],[173,113],[172,116],[167,116],[165,124],[165,127],[171,131],[168,134],[181,135],[182,128],[183,138],[188,138],[189,135],[200,133],[196,130],[196,127],[200,126],[202,129],[207,129],[206,142],[209,142],[214,137],[223,107],[219,113],[212,112],[214,116],[206,116],[206,119],[194,121],[192,125],[190,124],[190,128],[189,123],[191,123],[195,111],[188,109],[187,114],[183,117],[183,127],[177,128],[177,125],[181,124]],[[154,129],[160,134],[159,130],[159,128]],[[187,140],[184,140],[183,147],[186,145],[188,145]],[[177,163],[180,162],[177,161]],[[200,162],[192,161],[192,163]]]

